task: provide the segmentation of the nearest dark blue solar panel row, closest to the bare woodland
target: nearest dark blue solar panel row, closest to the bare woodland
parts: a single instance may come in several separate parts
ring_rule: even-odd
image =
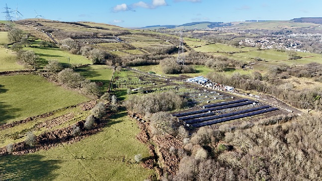
[[[278,110],[278,109],[277,108],[263,109],[263,110],[259,110],[259,111],[256,111],[256,112],[241,114],[241,115],[232,116],[232,117],[226,117],[226,118],[222,118],[222,119],[215,120],[215,121],[210,121],[210,122],[205,122],[205,123],[197,123],[197,124],[194,124],[192,126],[198,128],[198,127],[213,125],[213,124],[217,124],[217,123],[222,123],[222,122],[225,122],[225,121],[231,121],[231,120],[235,120],[235,119],[239,119],[239,118],[254,116],[254,115],[258,115],[258,114],[263,114],[263,113],[267,113],[267,112],[271,112],[271,111],[275,111],[275,110]]]

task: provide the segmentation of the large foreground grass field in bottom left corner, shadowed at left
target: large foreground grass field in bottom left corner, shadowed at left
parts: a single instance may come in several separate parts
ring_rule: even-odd
[[[136,123],[119,113],[102,132],[72,145],[23,156],[0,157],[3,179],[52,181],[143,181],[153,170],[134,164],[134,156],[149,157],[135,139]]]

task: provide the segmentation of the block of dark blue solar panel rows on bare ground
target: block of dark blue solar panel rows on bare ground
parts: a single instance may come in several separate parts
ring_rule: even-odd
[[[239,99],[229,102],[208,104],[199,110],[177,113],[172,116],[177,117],[187,126],[198,128],[240,118],[252,117],[276,110],[278,110],[278,108],[264,105],[257,101]]]

